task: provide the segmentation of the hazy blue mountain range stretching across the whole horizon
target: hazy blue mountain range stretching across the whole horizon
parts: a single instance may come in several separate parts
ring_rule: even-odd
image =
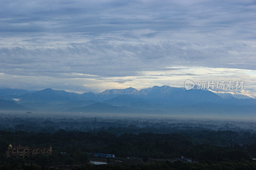
[[[28,92],[0,89],[0,111],[43,111],[115,114],[254,115],[256,100],[220,97],[206,90],[154,86],[78,94],[47,88]]]

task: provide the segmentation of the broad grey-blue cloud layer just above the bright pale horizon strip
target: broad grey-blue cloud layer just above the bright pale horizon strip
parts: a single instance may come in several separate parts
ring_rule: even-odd
[[[230,44],[228,48],[236,50],[242,47]],[[66,47],[61,48],[0,48],[0,55],[2,57],[0,71],[19,75],[76,72],[112,77],[134,76],[143,70],[173,70],[168,67],[178,65],[251,70],[254,70],[256,65],[256,61],[251,57],[240,55],[233,58],[219,48],[212,47],[199,51],[189,44],[180,45],[175,42],[134,44],[90,41],[67,44]]]

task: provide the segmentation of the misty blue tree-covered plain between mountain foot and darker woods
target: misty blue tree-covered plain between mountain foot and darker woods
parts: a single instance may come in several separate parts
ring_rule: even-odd
[[[49,116],[49,117],[48,117]],[[123,133],[138,134],[142,132],[153,133],[179,133],[183,130],[221,130],[241,131],[251,133],[256,130],[254,122],[223,121],[223,120],[176,120],[176,119],[134,119],[123,118],[88,118],[82,115],[2,115],[0,116],[0,130],[8,131],[34,131],[54,133],[59,129],[67,131],[79,130],[84,132],[108,130],[111,133],[120,135]],[[162,122],[161,122],[162,121]],[[224,123],[225,122],[225,123]],[[120,128],[118,128],[120,127]]]

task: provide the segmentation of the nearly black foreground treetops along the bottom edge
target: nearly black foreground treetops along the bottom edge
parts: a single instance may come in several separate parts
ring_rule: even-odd
[[[45,170],[44,166],[30,165],[25,166],[18,163],[6,164],[0,166],[0,170]],[[48,169],[48,168],[47,168]],[[50,168],[51,169],[51,168]],[[54,168],[52,168],[54,169]],[[209,160],[201,161],[199,163],[186,162],[182,163],[181,161],[169,162],[169,161],[156,161],[151,164],[137,164],[129,165],[127,163],[122,163],[118,165],[93,165],[90,163],[84,164],[82,166],[76,166],[72,170],[255,170],[256,162],[249,160],[240,160],[240,161],[230,161],[228,159],[220,162],[211,162]]]

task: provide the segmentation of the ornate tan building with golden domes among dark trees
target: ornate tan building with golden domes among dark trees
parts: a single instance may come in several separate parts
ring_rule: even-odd
[[[7,151],[5,152],[5,156],[7,158],[28,158],[33,157],[41,153],[43,155],[52,155],[52,146],[50,145],[49,148],[34,148],[31,149],[30,147],[22,147],[20,144],[17,147],[12,147],[12,144],[9,144]]]

